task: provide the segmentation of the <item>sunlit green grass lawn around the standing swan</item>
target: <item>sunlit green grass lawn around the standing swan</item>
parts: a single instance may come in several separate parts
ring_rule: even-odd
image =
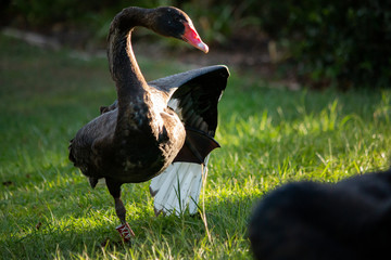
[[[212,239],[199,217],[155,218],[149,183],[126,184],[137,237],[124,247],[111,196],[67,159],[68,140],[115,99],[106,60],[0,41],[0,259],[251,259],[247,224],[264,193],[389,165],[390,90],[289,91],[231,70],[204,194]],[[187,69],[139,60],[148,79]]]

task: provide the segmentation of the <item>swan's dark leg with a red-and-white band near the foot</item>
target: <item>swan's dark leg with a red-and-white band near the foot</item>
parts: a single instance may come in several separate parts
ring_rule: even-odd
[[[121,183],[116,182],[112,179],[106,178],[106,185],[109,188],[110,194],[114,198],[115,204],[115,212],[121,220],[122,225],[118,225],[116,230],[119,232],[121,236],[123,237],[124,242],[129,242],[130,236],[135,236],[134,231],[130,229],[129,224],[126,222],[126,209],[121,199]]]

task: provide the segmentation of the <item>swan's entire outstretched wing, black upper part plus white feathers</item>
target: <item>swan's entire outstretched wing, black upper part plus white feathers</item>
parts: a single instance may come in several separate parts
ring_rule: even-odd
[[[217,103],[228,76],[226,66],[212,66],[151,82],[168,94],[168,106],[186,128],[186,141],[175,162],[151,181],[156,216],[161,212],[179,214],[187,208],[191,214],[197,212],[207,155],[219,146],[213,138],[217,127]]]

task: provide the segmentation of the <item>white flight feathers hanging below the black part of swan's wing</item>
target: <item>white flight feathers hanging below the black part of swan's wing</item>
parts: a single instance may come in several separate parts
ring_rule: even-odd
[[[174,162],[153,178],[150,192],[154,197],[155,214],[163,212],[167,216],[174,212],[179,216],[187,208],[190,214],[197,213],[205,170],[206,164]]]

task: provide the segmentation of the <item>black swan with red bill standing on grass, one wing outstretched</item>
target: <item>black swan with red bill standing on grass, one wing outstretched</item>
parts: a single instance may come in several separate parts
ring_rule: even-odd
[[[148,181],[155,213],[197,212],[202,170],[213,139],[217,103],[227,84],[223,65],[193,69],[146,82],[131,49],[136,26],[184,40],[207,52],[188,15],[172,6],[127,8],[113,20],[108,37],[110,72],[117,101],[83,127],[70,144],[70,159],[94,187],[105,181],[115,211],[128,229],[121,199],[123,183]],[[119,230],[118,230],[119,231]],[[119,231],[121,233],[121,231]]]

